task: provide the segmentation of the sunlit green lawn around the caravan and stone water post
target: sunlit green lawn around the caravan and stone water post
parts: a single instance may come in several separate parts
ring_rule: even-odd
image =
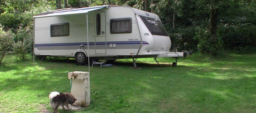
[[[90,106],[60,113],[255,113],[256,54],[207,59],[198,54],[173,58],[117,60],[114,67],[90,67]],[[51,91],[70,92],[68,72],[89,71],[75,60],[6,55],[0,64],[0,112],[52,112]]]

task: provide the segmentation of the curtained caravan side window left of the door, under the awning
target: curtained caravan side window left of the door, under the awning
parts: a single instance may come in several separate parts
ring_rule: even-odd
[[[69,36],[69,23],[51,24],[51,36]]]

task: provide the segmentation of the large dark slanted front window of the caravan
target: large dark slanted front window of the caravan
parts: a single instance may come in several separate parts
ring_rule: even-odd
[[[160,20],[141,15],[140,17],[152,35],[168,36]]]

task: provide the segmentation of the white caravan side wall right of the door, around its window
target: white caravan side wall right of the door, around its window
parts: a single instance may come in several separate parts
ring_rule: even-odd
[[[131,33],[111,33],[111,19],[129,19],[132,22]],[[136,55],[141,46],[141,38],[135,14],[130,7],[113,6],[106,10],[107,54]]]

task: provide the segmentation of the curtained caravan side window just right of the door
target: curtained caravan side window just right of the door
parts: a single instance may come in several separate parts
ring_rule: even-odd
[[[132,18],[110,19],[110,33],[131,33]]]

